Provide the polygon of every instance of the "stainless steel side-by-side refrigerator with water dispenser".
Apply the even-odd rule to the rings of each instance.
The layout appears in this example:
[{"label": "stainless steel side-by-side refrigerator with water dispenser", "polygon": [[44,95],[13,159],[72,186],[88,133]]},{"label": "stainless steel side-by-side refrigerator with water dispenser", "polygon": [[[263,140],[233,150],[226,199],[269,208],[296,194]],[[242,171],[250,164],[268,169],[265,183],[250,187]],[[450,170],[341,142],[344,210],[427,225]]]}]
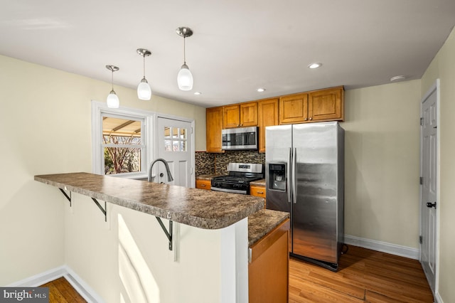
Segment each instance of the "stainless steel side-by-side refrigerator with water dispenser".
[{"label": "stainless steel side-by-side refrigerator with water dispenser", "polygon": [[265,128],[266,205],[291,213],[291,255],[338,270],[344,238],[344,129],[338,122]]}]

